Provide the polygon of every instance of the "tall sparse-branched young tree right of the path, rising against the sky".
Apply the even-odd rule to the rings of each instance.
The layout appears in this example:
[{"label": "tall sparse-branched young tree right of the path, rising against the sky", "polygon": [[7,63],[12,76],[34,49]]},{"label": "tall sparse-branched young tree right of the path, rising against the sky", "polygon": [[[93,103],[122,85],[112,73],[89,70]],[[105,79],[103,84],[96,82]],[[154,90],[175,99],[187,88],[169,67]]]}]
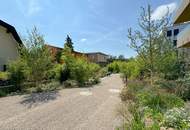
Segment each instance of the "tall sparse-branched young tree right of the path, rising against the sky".
[{"label": "tall sparse-branched young tree right of the path, rising against the sky", "polygon": [[128,38],[130,40],[130,47],[133,48],[138,57],[146,66],[147,71],[151,77],[151,84],[153,83],[153,76],[156,72],[157,59],[165,52],[164,44],[170,44],[165,36],[166,27],[169,25],[169,17],[166,15],[160,20],[152,18],[152,9],[142,8],[142,13],[139,19],[140,30],[128,30]]}]

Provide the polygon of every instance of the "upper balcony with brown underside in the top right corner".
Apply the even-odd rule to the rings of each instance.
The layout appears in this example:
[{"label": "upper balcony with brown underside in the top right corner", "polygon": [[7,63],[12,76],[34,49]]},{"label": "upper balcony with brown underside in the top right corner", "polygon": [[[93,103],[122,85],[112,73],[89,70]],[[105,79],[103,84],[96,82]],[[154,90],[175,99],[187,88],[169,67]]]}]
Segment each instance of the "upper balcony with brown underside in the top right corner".
[{"label": "upper balcony with brown underside in the top right corner", "polygon": [[190,21],[190,0],[182,0],[174,16],[174,24]]}]

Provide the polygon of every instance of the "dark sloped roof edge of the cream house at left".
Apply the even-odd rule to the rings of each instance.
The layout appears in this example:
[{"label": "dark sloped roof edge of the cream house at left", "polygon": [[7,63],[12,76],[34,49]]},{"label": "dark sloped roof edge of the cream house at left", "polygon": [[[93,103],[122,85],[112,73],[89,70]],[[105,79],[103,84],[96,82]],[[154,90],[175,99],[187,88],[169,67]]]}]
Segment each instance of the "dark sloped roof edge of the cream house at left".
[{"label": "dark sloped roof edge of the cream house at left", "polygon": [[15,29],[13,26],[11,26],[10,24],[8,24],[8,23],[6,23],[6,22],[4,22],[4,21],[2,21],[2,20],[0,20],[0,26],[3,26],[4,28],[6,28],[6,29],[7,29],[7,32],[11,33],[11,34],[13,35],[14,39],[15,39],[20,45],[22,45],[22,40],[20,39],[20,37],[19,37],[19,35],[18,35],[16,29]]}]

